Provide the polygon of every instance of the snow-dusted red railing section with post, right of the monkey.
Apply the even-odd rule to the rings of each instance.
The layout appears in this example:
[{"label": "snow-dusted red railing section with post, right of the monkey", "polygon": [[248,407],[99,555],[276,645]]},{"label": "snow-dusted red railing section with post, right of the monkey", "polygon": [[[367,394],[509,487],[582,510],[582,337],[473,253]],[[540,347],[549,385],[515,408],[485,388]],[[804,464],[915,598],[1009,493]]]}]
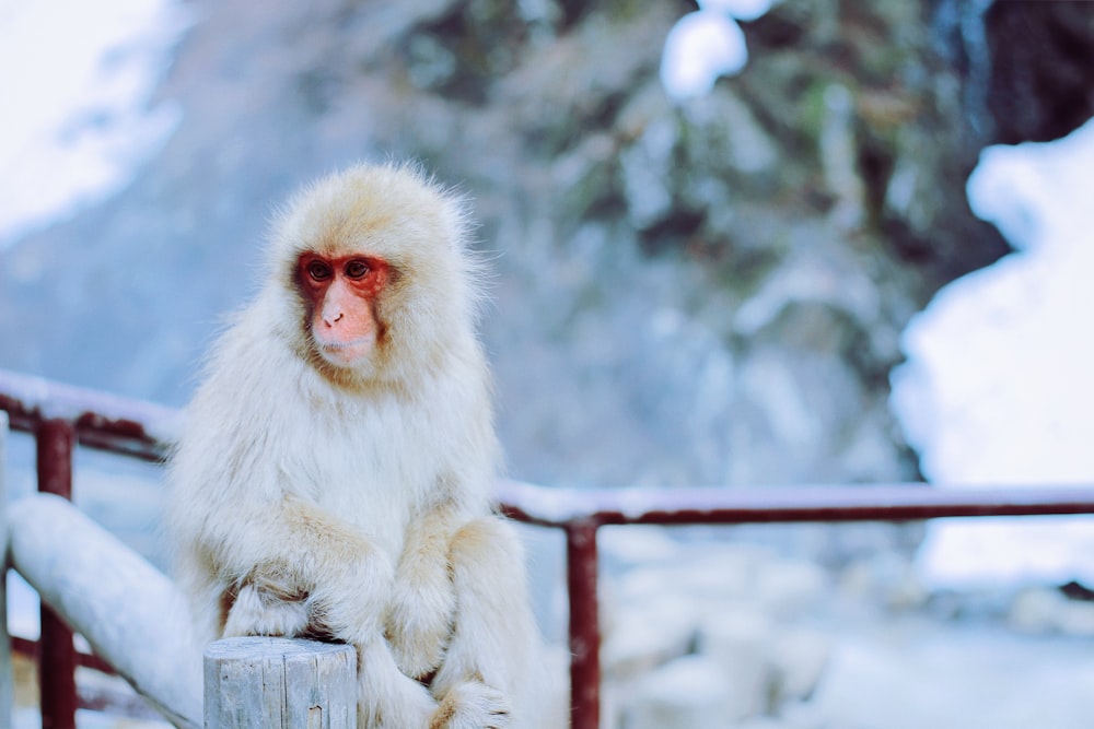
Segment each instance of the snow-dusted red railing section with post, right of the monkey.
[{"label": "snow-dusted red railing section with post, right of the monkey", "polygon": [[923,483],[793,489],[548,490],[501,484],[504,510],[558,527],[567,540],[570,603],[571,728],[600,721],[600,618],[596,531],[615,525],[742,525],[805,521],[910,521],[941,517],[1094,514],[1094,489],[955,491]]}]

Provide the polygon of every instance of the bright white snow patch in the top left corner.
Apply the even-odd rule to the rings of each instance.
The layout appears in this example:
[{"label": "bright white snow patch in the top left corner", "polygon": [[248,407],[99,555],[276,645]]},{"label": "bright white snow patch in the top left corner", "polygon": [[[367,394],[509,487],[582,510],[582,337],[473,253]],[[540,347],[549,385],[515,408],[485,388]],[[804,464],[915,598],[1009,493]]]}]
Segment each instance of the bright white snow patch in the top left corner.
[{"label": "bright white snow patch in the top left corner", "polygon": [[106,199],[171,136],[149,106],[187,25],[174,0],[0,0],[0,248]]}]

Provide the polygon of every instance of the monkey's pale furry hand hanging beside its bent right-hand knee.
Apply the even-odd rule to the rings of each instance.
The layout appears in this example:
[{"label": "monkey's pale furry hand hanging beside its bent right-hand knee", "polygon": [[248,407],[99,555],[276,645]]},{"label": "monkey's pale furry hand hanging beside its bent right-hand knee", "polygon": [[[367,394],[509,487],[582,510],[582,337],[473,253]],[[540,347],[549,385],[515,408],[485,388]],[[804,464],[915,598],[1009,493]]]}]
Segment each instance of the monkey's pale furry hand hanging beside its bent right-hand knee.
[{"label": "monkey's pale furry hand hanging beside its bent right-hand knee", "polygon": [[441,665],[456,610],[447,550],[405,554],[387,610],[387,640],[406,675],[423,678]]}]

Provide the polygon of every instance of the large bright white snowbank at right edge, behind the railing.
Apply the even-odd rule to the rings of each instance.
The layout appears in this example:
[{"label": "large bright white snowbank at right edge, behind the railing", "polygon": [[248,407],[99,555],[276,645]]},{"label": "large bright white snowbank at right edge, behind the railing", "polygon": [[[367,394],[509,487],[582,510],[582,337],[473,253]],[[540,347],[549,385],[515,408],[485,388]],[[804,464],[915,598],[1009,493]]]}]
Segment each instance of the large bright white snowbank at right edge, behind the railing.
[{"label": "large bright white snowbank at right edge, behind the railing", "polygon": [[[984,150],[973,211],[1016,248],[945,286],[903,337],[892,405],[942,487],[1094,482],[1094,119],[1048,143]],[[1094,585],[1094,519],[930,525],[933,587]]]}]

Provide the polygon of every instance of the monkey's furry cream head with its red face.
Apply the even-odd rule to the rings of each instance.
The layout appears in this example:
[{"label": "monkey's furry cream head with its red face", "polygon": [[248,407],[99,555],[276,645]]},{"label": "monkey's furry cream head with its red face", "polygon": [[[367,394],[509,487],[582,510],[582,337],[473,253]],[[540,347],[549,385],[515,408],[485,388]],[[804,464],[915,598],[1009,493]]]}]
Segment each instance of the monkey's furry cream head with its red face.
[{"label": "monkey's furry cream head with its red face", "polygon": [[466,231],[461,201],[415,168],[359,165],[316,181],[274,224],[265,293],[287,306],[275,327],[341,386],[443,366],[475,338]]}]

